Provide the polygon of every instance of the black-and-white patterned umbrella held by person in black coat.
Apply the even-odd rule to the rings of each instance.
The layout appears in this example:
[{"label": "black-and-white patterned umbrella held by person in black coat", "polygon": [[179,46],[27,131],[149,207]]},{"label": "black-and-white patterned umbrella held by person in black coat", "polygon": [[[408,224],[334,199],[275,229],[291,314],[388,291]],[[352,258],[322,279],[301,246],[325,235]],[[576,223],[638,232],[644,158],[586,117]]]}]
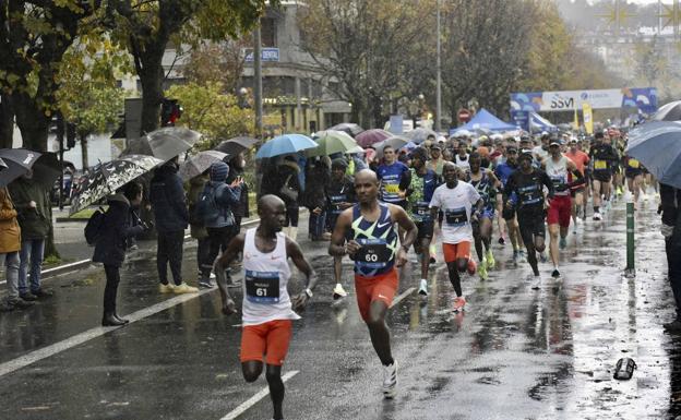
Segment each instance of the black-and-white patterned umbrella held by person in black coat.
[{"label": "black-and-white patterned umbrella held by person in black coat", "polygon": [[100,163],[85,177],[83,187],[71,201],[69,215],[112,194],[119,188],[163,163],[164,160],[159,158],[146,155],[129,155],[106,164]]}]

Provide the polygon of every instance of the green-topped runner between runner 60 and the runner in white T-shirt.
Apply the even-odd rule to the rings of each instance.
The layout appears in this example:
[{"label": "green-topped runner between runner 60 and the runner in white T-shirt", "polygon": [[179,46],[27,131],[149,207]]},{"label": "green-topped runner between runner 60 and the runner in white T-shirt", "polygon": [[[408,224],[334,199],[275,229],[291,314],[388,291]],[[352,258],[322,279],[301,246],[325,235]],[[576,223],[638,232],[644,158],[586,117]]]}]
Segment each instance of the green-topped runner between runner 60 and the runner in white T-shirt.
[{"label": "green-topped runner between runner 60 and the runner in white T-shirt", "polygon": [[409,217],[416,224],[418,235],[414,242],[414,251],[421,262],[421,281],[419,293],[428,296],[428,266],[430,265],[430,242],[434,231],[434,219],[430,216],[428,205],[440,178],[434,170],[428,169],[426,149],[417,147],[411,152],[411,183],[407,189]]}]

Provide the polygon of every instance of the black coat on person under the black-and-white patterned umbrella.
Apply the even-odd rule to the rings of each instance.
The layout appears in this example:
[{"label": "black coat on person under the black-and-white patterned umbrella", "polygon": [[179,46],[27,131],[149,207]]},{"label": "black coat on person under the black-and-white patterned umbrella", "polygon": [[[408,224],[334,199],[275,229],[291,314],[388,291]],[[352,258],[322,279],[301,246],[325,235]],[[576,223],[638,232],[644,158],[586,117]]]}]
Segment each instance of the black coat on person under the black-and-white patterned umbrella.
[{"label": "black coat on person under the black-and-white patterned umbrella", "polygon": [[124,195],[111,195],[108,204],[93,262],[120,267],[126,259],[128,238],[142,233],[144,228],[131,225],[130,203]]}]

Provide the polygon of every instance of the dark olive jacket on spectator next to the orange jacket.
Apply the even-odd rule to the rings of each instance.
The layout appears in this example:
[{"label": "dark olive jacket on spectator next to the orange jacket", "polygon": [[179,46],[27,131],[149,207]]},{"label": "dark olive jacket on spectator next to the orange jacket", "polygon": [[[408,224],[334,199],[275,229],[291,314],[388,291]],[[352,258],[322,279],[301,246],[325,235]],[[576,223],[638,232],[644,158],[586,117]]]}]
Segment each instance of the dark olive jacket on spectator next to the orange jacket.
[{"label": "dark olive jacket on spectator next to the orange jacket", "polygon": [[[52,224],[52,209],[49,193],[46,188],[33,179],[20,177],[9,185],[14,208],[19,215],[16,219],[22,229],[22,239],[45,239],[49,235]],[[28,203],[34,201],[35,208]]]}]

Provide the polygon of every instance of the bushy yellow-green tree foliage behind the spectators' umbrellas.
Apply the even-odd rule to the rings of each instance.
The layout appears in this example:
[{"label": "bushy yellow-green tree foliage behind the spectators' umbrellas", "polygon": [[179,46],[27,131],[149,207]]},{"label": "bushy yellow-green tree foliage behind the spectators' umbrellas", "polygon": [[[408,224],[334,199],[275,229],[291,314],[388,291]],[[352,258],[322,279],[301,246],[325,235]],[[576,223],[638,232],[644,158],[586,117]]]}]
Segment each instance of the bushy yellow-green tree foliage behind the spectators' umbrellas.
[{"label": "bushy yellow-green tree foliage behind the spectators' umbrellas", "polygon": [[254,133],[253,111],[241,109],[237,96],[225,94],[219,82],[175,85],[166,91],[166,96],[182,105],[182,117],[178,125],[203,134],[195,146],[198,149],[210,149],[223,140]]}]

